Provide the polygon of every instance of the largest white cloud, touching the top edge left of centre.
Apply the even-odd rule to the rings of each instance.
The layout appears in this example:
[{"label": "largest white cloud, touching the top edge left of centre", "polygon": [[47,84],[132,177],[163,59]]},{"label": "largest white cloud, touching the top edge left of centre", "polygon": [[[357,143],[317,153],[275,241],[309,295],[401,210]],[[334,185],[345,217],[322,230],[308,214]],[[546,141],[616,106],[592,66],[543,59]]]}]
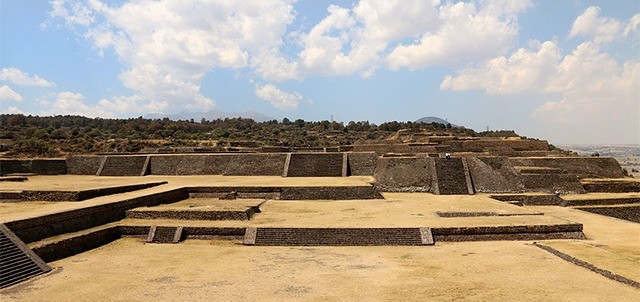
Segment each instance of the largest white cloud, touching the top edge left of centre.
[{"label": "largest white cloud, touching the top edge left of centre", "polygon": [[296,77],[295,63],[279,52],[281,37],[294,19],[293,0],[133,1],[119,6],[91,0],[81,8],[62,2],[53,3],[51,15],[85,26],[84,37],[100,52],[113,49],[129,66],[120,75],[123,84],[156,104],[213,108],[214,101],[200,87],[213,68],[253,67],[264,77]]}]

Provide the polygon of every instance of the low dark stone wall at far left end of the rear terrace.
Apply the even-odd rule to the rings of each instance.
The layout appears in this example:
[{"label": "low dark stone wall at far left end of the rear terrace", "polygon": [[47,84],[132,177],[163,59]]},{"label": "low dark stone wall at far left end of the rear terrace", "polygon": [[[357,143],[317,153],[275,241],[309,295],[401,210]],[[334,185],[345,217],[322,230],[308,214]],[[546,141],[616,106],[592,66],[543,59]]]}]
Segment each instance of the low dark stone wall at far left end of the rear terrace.
[{"label": "low dark stone wall at far left end of the rear terrace", "polygon": [[15,173],[67,174],[67,165],[64,159],[0,159],[0,176]]}]

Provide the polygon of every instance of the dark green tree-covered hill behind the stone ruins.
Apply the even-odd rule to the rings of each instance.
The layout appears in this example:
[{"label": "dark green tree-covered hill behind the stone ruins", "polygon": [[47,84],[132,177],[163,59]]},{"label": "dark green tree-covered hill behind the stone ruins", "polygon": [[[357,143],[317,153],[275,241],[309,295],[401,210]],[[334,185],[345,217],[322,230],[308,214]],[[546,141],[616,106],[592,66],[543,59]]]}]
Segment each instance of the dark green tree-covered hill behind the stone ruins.
[{"label": "dark green tree-covered hill behind the stone ruins", "polygon": [[440,123],[368,121],[256,122],[225,118],[172,121],[164,119],[103,119],[82,116],[0,115],[0,155],[58,157],[66,154],[137,152],[168,146],[213,147],[230,141],[255,141],[265,146],[328,147],[381,141],[401,129],[448,132],[459,136],[517,136],[513,131],[476,133]]}]

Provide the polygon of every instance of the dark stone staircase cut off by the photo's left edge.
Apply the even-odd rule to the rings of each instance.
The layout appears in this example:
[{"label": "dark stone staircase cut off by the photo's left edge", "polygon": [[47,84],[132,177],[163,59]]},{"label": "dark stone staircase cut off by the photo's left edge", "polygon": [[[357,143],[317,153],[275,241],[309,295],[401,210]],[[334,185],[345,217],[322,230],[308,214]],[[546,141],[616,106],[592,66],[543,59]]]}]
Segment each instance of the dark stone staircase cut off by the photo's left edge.
[{"label": "dark stone staircase cut off by the photo's left edge", "polygon": [[0,288],[51,271],[35,253],[0,224]]}]

